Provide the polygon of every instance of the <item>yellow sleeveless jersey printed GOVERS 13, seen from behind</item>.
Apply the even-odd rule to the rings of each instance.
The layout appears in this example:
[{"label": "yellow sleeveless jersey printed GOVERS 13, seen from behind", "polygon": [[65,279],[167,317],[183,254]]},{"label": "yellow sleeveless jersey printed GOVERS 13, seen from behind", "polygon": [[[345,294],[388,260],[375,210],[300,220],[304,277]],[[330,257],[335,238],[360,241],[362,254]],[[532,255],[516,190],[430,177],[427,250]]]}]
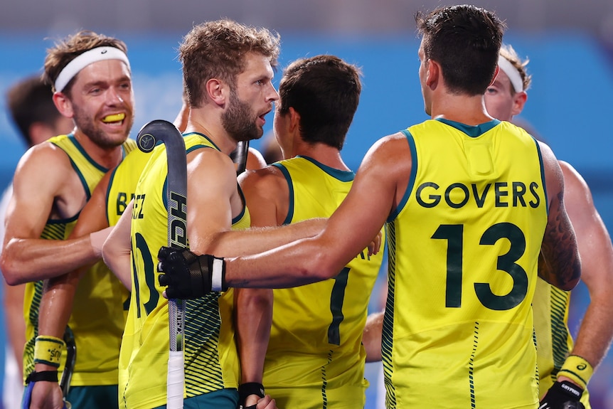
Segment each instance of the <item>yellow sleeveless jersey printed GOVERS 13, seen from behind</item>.
[{"label": "yellow sleeveless jersey printed GOVERS 13, seen from behind", "polygon": [[403,131],[412,174],[388,218],[388,408],[536,408],[531,302],[547,224],[537,142],[508,122]]}]

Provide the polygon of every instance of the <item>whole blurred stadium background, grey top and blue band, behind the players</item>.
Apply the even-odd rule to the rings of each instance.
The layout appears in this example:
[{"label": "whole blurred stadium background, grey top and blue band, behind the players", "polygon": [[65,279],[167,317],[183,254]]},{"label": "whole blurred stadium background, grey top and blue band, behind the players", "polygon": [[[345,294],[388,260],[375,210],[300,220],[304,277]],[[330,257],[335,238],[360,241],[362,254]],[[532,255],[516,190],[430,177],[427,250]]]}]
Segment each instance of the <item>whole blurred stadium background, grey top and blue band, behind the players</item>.
[{"label": "whole blurred stadium background, grey top and blue band, behind the players", "polygon": [[[357,169],[376,139],[426,119],[417,80],[413,16],[435,0],[0,0],[0,186],[9,184],[24,146],[6,115],[6,89],[41,73],[46,48],[85,28],[128,45],[137,98],[132,134],[151,119],[173,120],[181,106],[176,48],[194,23],[220,17],[265,26],[282,36],[280,68],[294,58],[331,53],[363,70],[363,93],[343,154]],[[521,119],[569,161],[592,188],[613,230],[613,1],[479,0],[506,20],[505,42],[528,57],[533,85]],[[280,73],[277,75],[280,76]],[[267,133],[272,114],[267,117]],[[252,143],[260,147],[261,142]],[[43,177],[43,175],[41,175]],[[380,284],[383,285],[383,275]],[[378,309],[378,292],[371,309]],[[589,295],[573,292],[576,331]],[[3,324],[0,317],[0,324]],[[613,323],[611,323],[613,324]],[[4,339],[0,339],[4,342]],[[592,408],[613,408],[613,357],[590,383]],[[0,368],[4,356],[0,354]],[[367,408],[375,408],[378,364],[368,364]],[[0,378],[1,378],[0,371]]]}]

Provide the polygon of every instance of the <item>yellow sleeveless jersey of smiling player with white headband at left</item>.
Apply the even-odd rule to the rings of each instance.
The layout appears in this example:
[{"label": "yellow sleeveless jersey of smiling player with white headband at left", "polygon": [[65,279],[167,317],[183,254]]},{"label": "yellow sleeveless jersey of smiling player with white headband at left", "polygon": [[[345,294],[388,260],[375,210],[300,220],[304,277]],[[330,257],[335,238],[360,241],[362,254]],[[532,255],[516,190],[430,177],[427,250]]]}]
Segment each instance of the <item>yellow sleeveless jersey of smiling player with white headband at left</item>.
[{"label": "yellow sleeveless jersey of smiling player with white headband at left", "polygon": [[[48,140],[70,157],[73,169],[79,175],[89,200],[91,192],[109,170],[97,164],[70,135]],[[124,142],[124,155],[136,147],[133,139]],[[41,238],[65,240],[70,235],[78,215],[65,220],[49,220]],[[68,272],[68,271],[67,271]],[[26,346],[23,351],[23,376],[34,369],[34,340],[38,335],[38,307],[41,304],[43,282],[28,282],[23,304],[26,319]],[[125,317],[123,303],[129,292],[100,261],[88,270],[79,282],[73,312],[68,326],[75,334],[78,358],[75,363],[73,386],[117,385],[117,361]],[[61,359],[65,361],[65,353]]]}]

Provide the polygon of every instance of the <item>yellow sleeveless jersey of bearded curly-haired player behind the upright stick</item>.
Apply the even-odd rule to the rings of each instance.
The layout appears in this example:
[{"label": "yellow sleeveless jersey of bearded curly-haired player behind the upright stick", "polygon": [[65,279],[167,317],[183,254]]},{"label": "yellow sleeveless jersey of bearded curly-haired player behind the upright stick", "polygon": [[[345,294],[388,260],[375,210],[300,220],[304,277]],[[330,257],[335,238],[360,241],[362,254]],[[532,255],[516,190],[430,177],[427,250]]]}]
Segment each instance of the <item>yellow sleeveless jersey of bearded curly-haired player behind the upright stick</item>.
[{"label": "yellow sleeveless jersey of bearded curly-haired player behind the upright stick", "polygon": [[[185,144],[187,152],[218,149],[201,134],[186,135]],[[132,296],[119,357],[120,408],[155,408],[166,404],[169,312],[156,265],[159,248],[168,245],[167,169],[166,149],[156,147],[142,171],[134,196]],[[233,220],[233,228],[249,226],[245,208]],[[239,364],[232,314],[233,290],[186,301],[186,398],[238,388]]]}]

